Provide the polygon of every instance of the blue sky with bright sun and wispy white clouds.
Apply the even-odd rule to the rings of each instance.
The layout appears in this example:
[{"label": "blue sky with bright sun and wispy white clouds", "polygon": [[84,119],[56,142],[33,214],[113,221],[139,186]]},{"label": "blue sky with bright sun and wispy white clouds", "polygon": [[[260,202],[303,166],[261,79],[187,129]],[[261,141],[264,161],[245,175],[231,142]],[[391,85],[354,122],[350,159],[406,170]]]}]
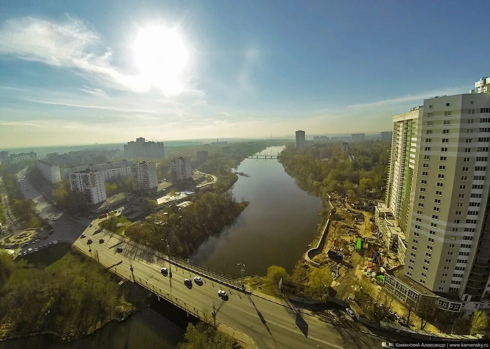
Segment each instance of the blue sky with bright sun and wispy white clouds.
[{"label": "blue sky with bright sun and wispy white clouds", "polygon": [[379,132],[490,75],[490,1],[1,1],[0,149]]}]

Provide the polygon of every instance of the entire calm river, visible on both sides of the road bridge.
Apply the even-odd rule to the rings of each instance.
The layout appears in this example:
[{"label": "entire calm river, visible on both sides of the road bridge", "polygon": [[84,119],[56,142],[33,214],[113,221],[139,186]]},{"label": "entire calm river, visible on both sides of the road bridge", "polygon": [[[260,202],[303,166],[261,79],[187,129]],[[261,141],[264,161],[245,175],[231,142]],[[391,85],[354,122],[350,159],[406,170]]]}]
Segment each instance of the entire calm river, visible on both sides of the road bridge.
[{"label": "entire calm river, visible on both sides of the road bridge", "polygon": [[[257,154],[276,155],[283,148],[269,147]],[[265,275],[270,265],[291,272],[316,235],[321,199],[301,190],[276,159],[245,159],[237,172],[248,176],[239,176],[233,194],[250,204],[233,225],[203,243],[191,259],[235,277],[241,269],[245,275]],[[183,340],[186,320],[174,307],[155,302],[123,323],[108,324],[72,343],[36,336],[0,342],[0,349],[173,349]]]}]

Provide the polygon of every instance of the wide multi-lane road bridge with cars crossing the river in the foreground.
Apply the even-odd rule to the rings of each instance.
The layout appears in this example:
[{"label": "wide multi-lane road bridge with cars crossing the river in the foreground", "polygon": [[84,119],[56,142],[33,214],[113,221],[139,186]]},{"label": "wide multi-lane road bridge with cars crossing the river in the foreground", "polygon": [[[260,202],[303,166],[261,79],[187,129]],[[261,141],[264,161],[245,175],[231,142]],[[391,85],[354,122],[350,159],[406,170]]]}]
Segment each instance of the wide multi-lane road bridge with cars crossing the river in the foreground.
[{"label": "wide multi-lane road bridge with cars crossing the river in the foreground", "polygon": [[[380,347],[380,338],[363,333],[361,325],[350,319],[334,316],[329,323],[296,309],[285,299],[250,292],[240,281],[169,258],[108,231],[96,233],[98,222],[97,219],[94,226],[87,227],[87,237],[78,239],[73,246],[160,299],[215,324],[249,348]],[[89,238],[92,244],[88,244]],[[98,243],[101,238],[104,242]],[[118,247],[123,252],[118,253]],[[167,275],[160,272],[162,267],[169,269]],[[196,283],[195,276],[200,276],[202,283]],[[185,278],[191,279],[192,285],[184,284]],[[220,298],[219,290],[226,291],[228,297]]]}]

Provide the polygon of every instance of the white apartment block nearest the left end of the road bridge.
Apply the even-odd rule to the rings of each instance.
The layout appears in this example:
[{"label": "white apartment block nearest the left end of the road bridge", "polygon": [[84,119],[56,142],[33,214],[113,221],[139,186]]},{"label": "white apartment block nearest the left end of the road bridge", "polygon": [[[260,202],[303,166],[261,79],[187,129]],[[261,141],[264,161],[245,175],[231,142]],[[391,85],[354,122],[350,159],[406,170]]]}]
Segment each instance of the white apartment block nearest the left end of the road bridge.
[{"label": "white apartment block nearest the left end of the road bridge", "polygon": [[104,175],[101,171],[85,170],[70,174],[72,190],[83,194],[87,204],[96,204],[107,199]]}]

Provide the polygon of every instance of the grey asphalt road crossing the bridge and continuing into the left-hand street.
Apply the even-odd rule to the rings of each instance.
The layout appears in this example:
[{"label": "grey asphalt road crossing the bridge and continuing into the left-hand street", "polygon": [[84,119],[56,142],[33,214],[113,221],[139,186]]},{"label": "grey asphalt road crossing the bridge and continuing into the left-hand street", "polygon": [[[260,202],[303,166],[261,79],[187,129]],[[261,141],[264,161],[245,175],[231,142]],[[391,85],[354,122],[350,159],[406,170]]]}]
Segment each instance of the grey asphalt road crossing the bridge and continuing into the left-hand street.
[{"label": "grey asphalt road crossing the bridge and continuing into the left-hand street", "polygon": [[[27,190],[24,190],[24,186]],[[132,264],[136,277],[178,298],[186,306],[195,307],[200,313],[207,312],[209,316],[214,302],[216,320],[248,335],[257,348],[381,348],[381,339],[359,332],[359,327],[355,326],[354,322],[348,328],[343,328],[322,322],[308,314],[297,315],[298,312],[285,304],[278,304],[255,295],[246,295],[205,277],[201,285],[193,281],[192,287],[187,287],[183,280],[185,278],[192,280],[196,275],[175,266],[172,266],[171,285],[170,278],[160,273],[162,267],[170,269],[163,259],[126,243],[120,243],[119,236],[111,236],[105,232],[94,235],[98,229],[98,219],[94,226],[88,227],[91,220],[78,222],[66,217],[46,202],[29,181],[24,180],[22,188],[26,198],[38,201],[36,209],[42,217],[50,218],[54,228],[54,233],[49,236],[49,239],[41,240],[39,244],[54,239],[74,242],[77,248],[98,259],[103,265],[111,267],[110,270],[128,278],[131,273],[130,264]],[[53,217],[56,217],[55,222],[52,221]],[[82,232],[85,232],[86,238],[80,238]],[[93,240],[90,245],[89,238]],[[98,243],[100,238],[104,239],[101,244]],[[123,252],[118,253],[117,247],[122,247]],[[218,297],[218,291],[221,289],[228,293],[227,299]],[[279,299],[277,301],[281,302]]]}]

